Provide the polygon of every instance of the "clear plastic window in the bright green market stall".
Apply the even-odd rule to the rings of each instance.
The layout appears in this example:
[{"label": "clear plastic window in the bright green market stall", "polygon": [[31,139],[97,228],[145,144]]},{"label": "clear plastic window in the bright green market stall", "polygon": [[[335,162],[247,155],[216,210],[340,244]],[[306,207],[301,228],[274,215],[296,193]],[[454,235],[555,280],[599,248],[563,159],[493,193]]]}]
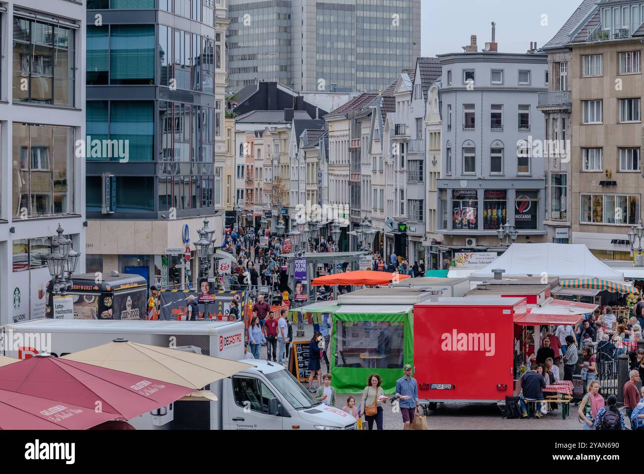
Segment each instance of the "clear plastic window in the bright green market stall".
[{"label": "clear plastic window in the bright green market stall", "polygon": [[400,368],[403,321],[336,321],[337,367]]}]

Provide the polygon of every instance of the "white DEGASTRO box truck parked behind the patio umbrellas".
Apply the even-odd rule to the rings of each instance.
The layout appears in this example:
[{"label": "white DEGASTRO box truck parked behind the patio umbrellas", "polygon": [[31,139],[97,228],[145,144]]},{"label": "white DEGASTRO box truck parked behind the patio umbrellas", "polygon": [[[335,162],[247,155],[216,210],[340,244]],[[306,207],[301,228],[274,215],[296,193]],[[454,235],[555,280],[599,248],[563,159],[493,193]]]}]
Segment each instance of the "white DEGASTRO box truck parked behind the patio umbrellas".
[{"label": "white DEGASTRO box truck parked behind the patio umbrellas", "polygon": [[4,352],[23,358],[35,353],[58,357],[100,346],[113,339],[183,347],[205,355],[240,360],[256,367],[210,384],[218,401],[175,402],[156,413],[130,420],[137,430],[355,430],[345,411],[316,402],[280,364],[243,359],[242,322],[117,321],[35,319],[6,324]]}]

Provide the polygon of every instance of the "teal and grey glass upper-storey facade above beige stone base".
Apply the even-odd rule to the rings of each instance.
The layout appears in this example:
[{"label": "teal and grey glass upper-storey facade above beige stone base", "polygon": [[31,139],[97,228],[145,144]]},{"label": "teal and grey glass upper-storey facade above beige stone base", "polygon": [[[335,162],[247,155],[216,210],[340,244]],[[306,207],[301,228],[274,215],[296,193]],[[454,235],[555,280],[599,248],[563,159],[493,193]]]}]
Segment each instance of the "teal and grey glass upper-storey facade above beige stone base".
[{"label": "teal and grey glass upper-storey facade above beige stone base", "polygon": [[[155,8],[153,4],[95,0],[88,9],[135,10]],[[214,0],[160,0],[158,8],[214,23]],[[97,146],[116,141],[129,152],[124,160],[88,143],[88,217],[101,217],[101,175],[106,172],[115,175],[117,218],[136,213],[137,218],[147,214],[155,219],[171,208],[178,218],[209,214],[221,202],[215,194],[215,188],[222,191],[214,138],[223,110],[221,101],[214,100],[214,70],[216,61],[222,61],[223,41],[221,34],[195,30],[140,25],[136,12],[129,25],[88,26],[86,133]],[[151,163],[153,168],[147,166]]]}]

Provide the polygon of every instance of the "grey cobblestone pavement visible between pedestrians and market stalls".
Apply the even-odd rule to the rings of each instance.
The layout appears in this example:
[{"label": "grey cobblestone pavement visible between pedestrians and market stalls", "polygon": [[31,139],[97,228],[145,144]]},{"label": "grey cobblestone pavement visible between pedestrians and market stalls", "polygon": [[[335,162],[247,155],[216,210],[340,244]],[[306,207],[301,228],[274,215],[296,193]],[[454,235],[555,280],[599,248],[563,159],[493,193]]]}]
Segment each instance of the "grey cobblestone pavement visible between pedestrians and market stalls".
[{"label": "grey cobblestone pavement visible between pedestrians and market stalls", "polygon": [[[296,334],[297,324],[293,324],[293,334]],[[313,337],[313,327],[305,324],[304,337],[295,337],[295,341],[308,341]],[[261,359],[266,359],[266,347],[260,348]],[[322,360],[323,373],[327,366]],[[402,377],[402,371],[401,371]],[[307,384],[303,386],[307,388]],[[313,382],[314,388],[317,382]],[[336,406],[345,406],[346,398],[353,395],[357,403],[360,402],[362,393],[339,393],[336,396]],[[386,395],[393,395],[386,394]],[[467,404],[467,403],[441,403],[437,410],[430,411],[427,417],[427,426],[430,430],[581,430],[582,425],[577,420],[577,407],[571,405],[570,414],[562,420],[561,410],[550,411],[542,419],[529,420],[501,419],[501,411],[497,405],[492,404]],[[365,424],[366,428],[366,424]],[[402,430],[403,418],[399,412],[394,413],[392,405],[387,403],[383,412],[384,430]],[[375,423],[374,423],[375,430]]]}]

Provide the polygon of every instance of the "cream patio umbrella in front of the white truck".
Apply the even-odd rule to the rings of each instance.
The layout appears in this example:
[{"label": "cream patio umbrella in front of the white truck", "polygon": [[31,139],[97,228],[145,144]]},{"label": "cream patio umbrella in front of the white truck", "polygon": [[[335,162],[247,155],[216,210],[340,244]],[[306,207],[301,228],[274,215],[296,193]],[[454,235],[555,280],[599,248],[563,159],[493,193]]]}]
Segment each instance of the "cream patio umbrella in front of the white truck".
[{"label": "cream patio umbrella in front of the white truck", "polygon": [[214,393],[201,389],[240,370],[254,367],[236,360],[149,346],[126,339],[115,339],[102,346],[64,355],[62,359],[151,377],[195,390],[182,400],[214,401],[217,399]]}]

